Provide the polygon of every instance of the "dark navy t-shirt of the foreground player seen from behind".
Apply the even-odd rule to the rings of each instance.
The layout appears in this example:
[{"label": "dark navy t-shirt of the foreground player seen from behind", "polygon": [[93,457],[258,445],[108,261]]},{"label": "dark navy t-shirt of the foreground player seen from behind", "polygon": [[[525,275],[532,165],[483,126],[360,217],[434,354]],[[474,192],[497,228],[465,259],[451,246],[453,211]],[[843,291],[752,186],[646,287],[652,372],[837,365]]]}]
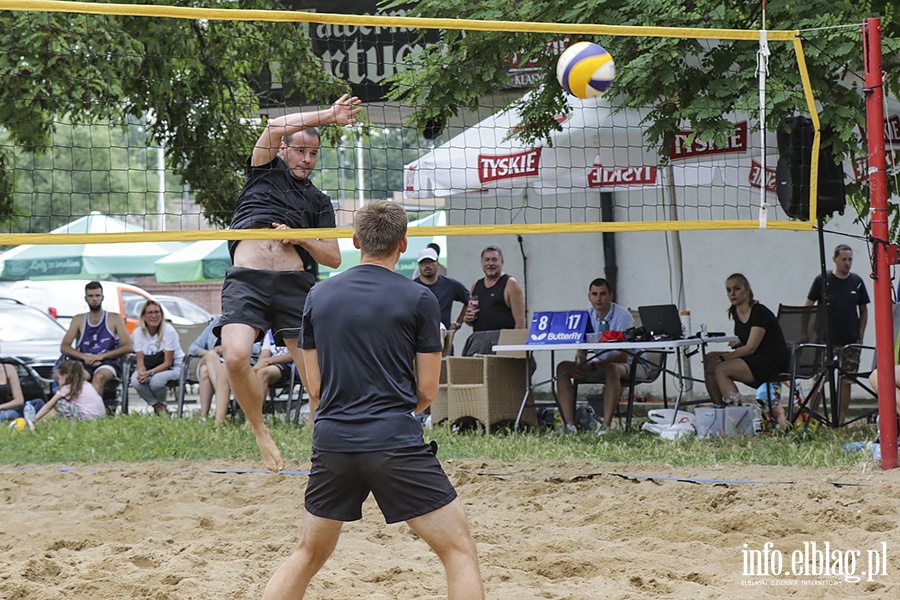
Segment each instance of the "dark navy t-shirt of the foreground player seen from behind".
[{"label": "dark navy t-shirt of the foreground player seen from behind", "polygon": [[375,452],[423,443],[413,360],[440,352],[440,309],[423,286],[375,265],[316,284],[303,310],[301,347],[322,375],[312,446]]}]

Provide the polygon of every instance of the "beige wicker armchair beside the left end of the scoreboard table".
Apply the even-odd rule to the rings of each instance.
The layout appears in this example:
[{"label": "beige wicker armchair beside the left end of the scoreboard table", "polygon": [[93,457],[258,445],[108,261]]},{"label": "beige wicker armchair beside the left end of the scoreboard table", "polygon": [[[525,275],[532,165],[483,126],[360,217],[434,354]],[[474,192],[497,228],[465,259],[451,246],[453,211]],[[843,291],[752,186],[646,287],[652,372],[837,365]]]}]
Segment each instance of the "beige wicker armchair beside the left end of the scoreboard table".
[{"label": "beige wicker armchair beside the left end of the scoreboard table", "polygon": [[[447,418],[451,425],[478,421],[487,433],[514,423],[522,405],[528,361],[507,356],[447,357]],[[432,422],[435,420],[432,412]],[[526,408],[522,422],[537,427],[534,407]]]}]

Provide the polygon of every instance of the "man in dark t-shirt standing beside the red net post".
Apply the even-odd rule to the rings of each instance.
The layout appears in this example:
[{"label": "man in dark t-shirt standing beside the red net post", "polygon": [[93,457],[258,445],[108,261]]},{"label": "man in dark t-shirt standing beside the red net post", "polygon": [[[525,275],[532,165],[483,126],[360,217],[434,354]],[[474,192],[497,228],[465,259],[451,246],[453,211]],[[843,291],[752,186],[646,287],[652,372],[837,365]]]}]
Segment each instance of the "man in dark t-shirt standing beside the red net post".
[{"label": "man in dark t-shirt standing beside the red net post", "polygon": [[[856,273],[851,273],[853,266],[853,250],[846,244],[838,244],[834,249],[834,269],[828,273],[828,323],[831,328],[831,344],[836,351],[842,353],[844,368],[856,371],[859,367],[859,348],[842,349],[847,344],[862,343],[866,333],[866,321],[869,318],[869,293],[866,284]],[[822,275],[816,275],[809,293],[806,295],[806,306],[822,302]],[[841,383],[840,421],[844,422],[850,407],[850,381]]]}]

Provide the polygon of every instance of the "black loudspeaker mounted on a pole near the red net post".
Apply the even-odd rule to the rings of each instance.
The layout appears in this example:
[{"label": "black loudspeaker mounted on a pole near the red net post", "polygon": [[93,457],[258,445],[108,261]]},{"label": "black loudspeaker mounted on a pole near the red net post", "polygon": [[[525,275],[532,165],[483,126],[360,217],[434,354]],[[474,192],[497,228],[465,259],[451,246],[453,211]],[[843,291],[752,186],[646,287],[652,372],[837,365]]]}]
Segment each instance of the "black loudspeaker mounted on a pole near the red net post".
[{"label": "black loudspeaker mounted on a pole near the red net post", "polygon": [[[788,117],[778,129],[778,165],[775,167],[775,191],[781,208],[792,219],[809,219],[809,172],[812,162],[814,131],[807,117]],[[831,150],[824,143],[822,132],[819,145],[819,202],[817,217],[844,214],[847,194],[844,171],[835,164]]]}]

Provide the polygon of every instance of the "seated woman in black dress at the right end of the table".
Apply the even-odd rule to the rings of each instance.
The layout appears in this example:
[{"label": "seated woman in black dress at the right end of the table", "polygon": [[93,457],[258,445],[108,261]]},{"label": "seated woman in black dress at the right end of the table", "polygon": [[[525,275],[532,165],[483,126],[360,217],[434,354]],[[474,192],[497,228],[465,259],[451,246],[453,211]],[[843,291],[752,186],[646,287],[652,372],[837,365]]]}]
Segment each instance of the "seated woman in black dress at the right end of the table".
[{"label": "seated woman in black dress at the right end of the table", "polygon": [[[725,291],[731,302],[728,316],[734,321],[738,341],[731,342],[731,352],[710,352],[706,357],[706,385],[713,402],[719,405],[740,398],[735,382],[758,388],[784,373],[790,360],[778,319],[753,299],[747,278],[740,273],[731,275],[725,280]],[[772,408],[773,416],[783,422],[784,410]]]}]

